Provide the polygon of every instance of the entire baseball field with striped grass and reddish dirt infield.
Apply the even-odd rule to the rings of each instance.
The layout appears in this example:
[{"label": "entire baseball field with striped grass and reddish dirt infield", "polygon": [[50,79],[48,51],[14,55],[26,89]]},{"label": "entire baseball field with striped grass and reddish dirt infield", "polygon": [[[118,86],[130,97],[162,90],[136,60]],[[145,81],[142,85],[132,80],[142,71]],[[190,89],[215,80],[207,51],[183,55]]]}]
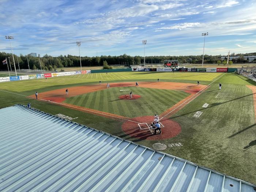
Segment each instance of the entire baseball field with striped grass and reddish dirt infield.
[{"label": "entire baseball field with striped grass and reddish dirt infield", "polygon": [[[255,184],[255,85],[234,73],[60,76],[0,83],[0,107],[30,102],[41,111]],[[149,129],[154,114],[162,127],[157,135]]]}]

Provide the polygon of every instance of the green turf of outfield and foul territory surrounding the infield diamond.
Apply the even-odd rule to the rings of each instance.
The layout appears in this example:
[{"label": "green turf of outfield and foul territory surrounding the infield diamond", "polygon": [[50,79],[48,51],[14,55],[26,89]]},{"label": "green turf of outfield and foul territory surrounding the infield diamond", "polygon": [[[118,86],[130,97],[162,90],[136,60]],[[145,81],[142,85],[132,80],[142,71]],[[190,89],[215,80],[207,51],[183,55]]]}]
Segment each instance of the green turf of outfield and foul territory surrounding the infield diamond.
[{"label": "green turf of outfield and foul territory surrounding the infield diamond", "polygon": [[[106,74],[86,74],[67,77],[57,77],[19,82],[0,83],[0,90],[12,91],[18,94],[30,95],[35,90],[39,93],[60,89],[67,86],[94,84],[102,82],[122,81],[161,81],[210,84],[223,74],[218,73],[160,73],[160,72],[119,72]],[[222,90],[218,90],[218,83],[222,83]],[[130,138],[121,130],[122,121],[100,117],[29,99],[21,95],[0,91],[0,106],[11,106],[16,103],[31,106],[51,114],[64,114],[78,117],[75,121],[95,129],[121,136],[139,144],[152,147],[154,143],[165,144],[182,143],[180,147],[167,147],[163,152],[185,158],[189,161],[207,166],[220,172],[238,177],[245,181],[256,183],[255,155],[256,155],[256,123],[253,110],[252,91],[245,85],[256,85],[256,82],[240,75],[228,73],[223,75],[210,88],[196,99],[182,108],[171,118],[182,126],[182,131],[175,138],[149,141],[138,141]],[[138,87],[137,87],[138,88]],[[227,98],[216,98],[221,92]],[[223,96],[223,97],[224,97]],[[142,98],[141,98],[142,99]],[[136,101],[136,100],[133,100]],[[132,102],[133,102],[132,101]],[[130,102],[130,101],[128,101]],[[113,103],[113,102],[109,102]],[[207,108],[202,108],[209,103]],[[197,111],[202,111],[198,118],[193,117]],[[143,114],[144,115],[144,114]],[[164,129],[162,130],[164,134]]]}]

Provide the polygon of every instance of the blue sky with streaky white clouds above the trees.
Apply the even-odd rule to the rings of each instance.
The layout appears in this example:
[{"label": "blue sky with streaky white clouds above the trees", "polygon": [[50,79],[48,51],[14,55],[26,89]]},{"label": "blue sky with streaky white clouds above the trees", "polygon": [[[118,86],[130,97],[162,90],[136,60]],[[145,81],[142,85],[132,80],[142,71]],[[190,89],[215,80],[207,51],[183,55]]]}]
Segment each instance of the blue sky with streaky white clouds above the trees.
[{"label": "blue sky with streaky white clouds above the trees", "polygon": [[0,0],[0,52],[146,56],[256,52],[255,0]]}]

